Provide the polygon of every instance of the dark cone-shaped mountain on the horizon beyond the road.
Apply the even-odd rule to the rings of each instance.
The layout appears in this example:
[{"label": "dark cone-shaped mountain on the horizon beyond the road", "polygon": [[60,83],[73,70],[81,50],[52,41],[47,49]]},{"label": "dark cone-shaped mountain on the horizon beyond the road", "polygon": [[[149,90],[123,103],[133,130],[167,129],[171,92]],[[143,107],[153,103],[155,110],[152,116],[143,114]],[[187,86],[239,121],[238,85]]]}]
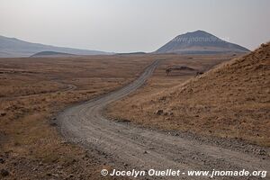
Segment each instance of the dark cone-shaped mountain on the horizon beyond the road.
[{"label": "dark cone-shaped mountain on the horizon beyond the road", "polygon": [[177,54],[215,54],[215,53],[244,53],[249,51],[238,44],[230,43],[206,31],[187,32],[176,36],[155,53]]}]

